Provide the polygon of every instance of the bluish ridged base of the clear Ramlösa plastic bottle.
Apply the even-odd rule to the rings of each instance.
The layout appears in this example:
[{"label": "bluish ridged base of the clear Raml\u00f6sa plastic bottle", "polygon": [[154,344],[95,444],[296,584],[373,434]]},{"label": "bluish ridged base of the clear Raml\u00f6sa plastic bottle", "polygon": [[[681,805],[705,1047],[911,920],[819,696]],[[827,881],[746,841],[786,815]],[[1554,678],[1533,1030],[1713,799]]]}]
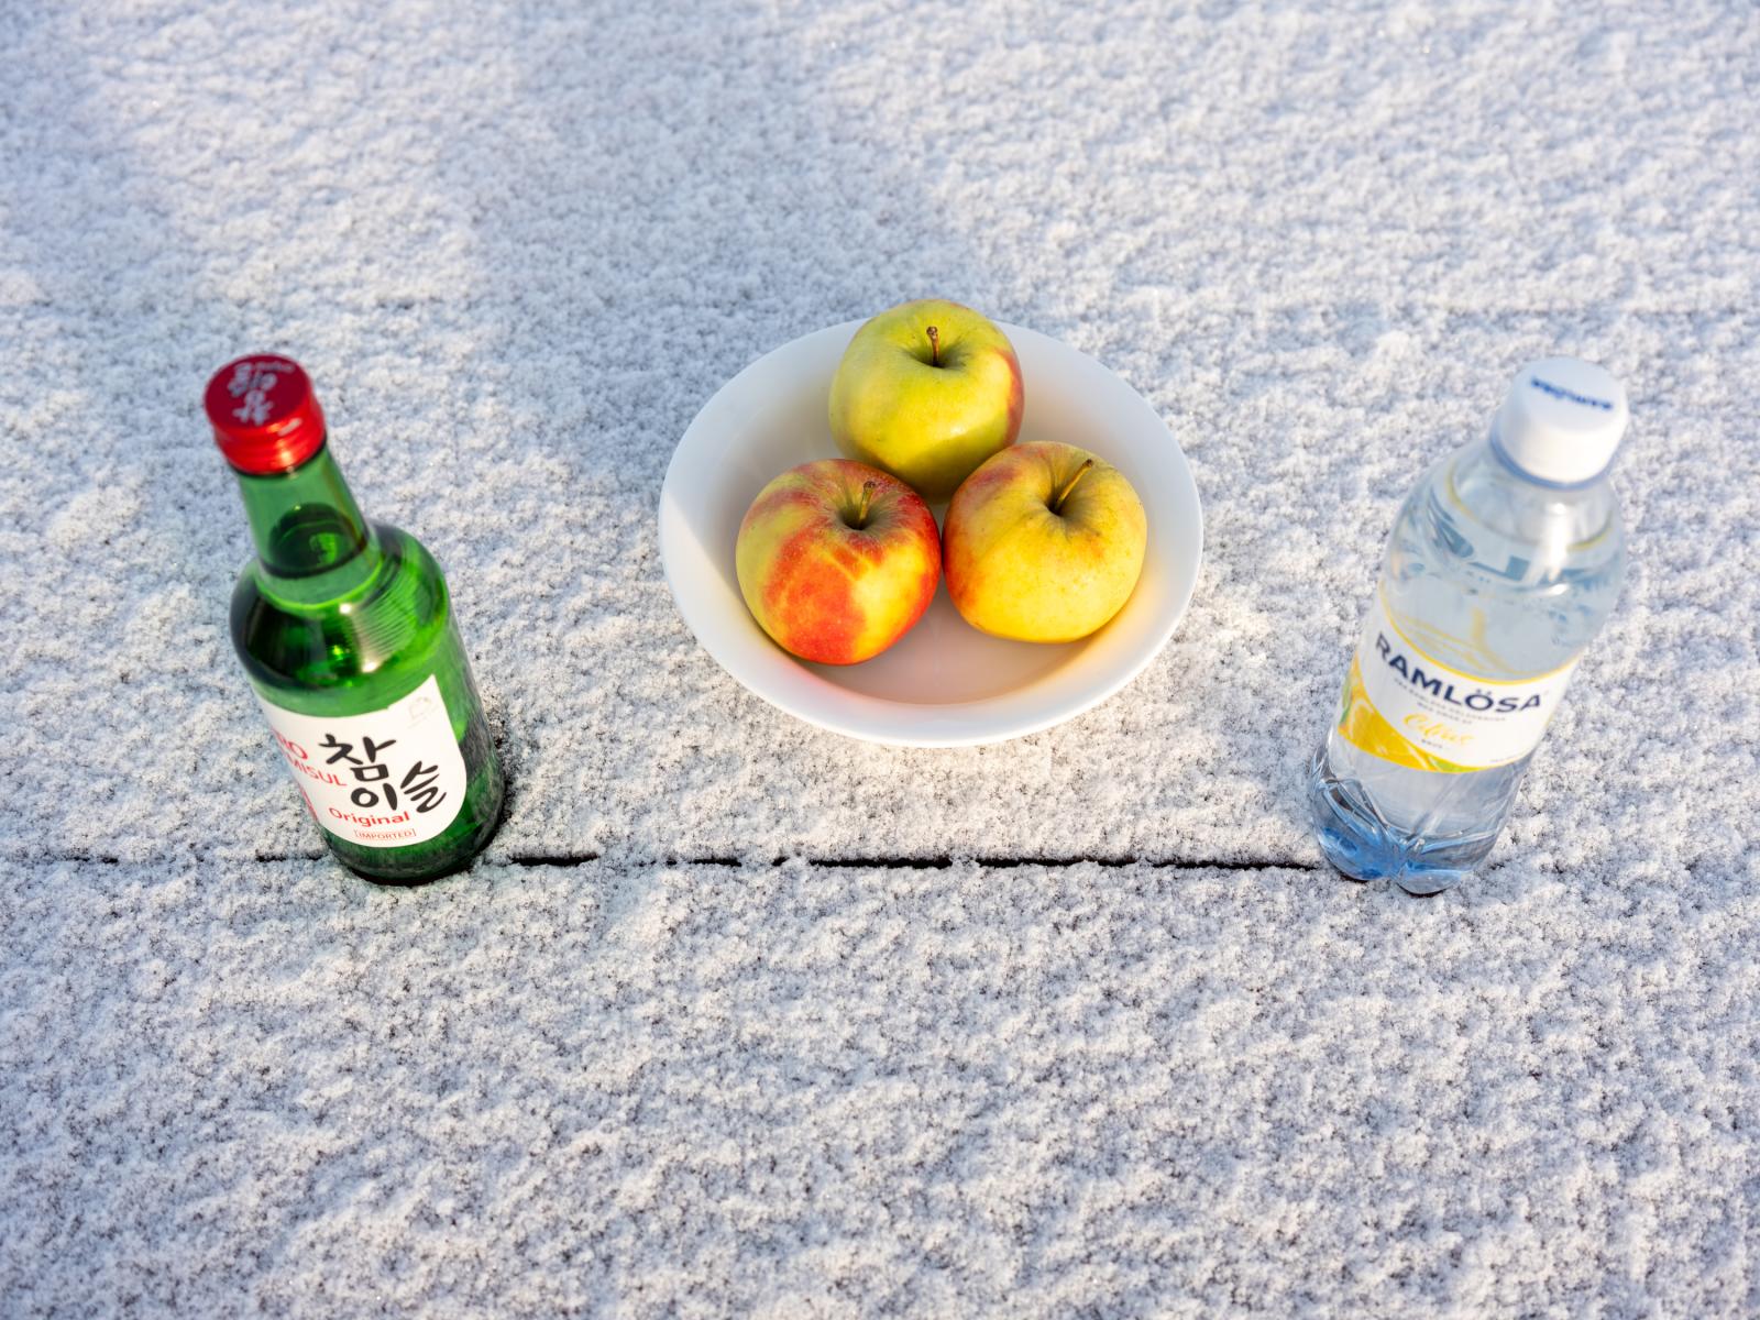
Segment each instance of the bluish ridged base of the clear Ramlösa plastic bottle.
[{"label": "bluish ridged base of the clear Raml\u00f6sa plastic bottle", "polygon": [[1426,840],[1389,825],[1362,785],[1327,771],[1325,743],[1308,771],[1308,808],[1320,852],[1348,880],[1392,880],[1413,898],[1433,898],[1466,880],[1498,843],[1498,829]]}]

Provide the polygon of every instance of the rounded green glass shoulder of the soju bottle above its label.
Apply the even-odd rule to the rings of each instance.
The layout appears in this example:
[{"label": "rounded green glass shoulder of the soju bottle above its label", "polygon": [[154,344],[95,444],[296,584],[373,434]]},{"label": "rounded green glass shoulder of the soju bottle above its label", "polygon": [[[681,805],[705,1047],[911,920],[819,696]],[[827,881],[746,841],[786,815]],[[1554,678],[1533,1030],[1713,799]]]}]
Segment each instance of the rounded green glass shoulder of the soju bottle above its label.
[{"label": "rounded green glass shoulder of the soju bottle above its label", "polygon": [[260,690],[371,693],[396,700],[435,667],[449,642],[451,597],[440,565],[415,537],[373,524],[380,561],[329,598],[289,598],[252,560],[232,588],[232,644]]}]

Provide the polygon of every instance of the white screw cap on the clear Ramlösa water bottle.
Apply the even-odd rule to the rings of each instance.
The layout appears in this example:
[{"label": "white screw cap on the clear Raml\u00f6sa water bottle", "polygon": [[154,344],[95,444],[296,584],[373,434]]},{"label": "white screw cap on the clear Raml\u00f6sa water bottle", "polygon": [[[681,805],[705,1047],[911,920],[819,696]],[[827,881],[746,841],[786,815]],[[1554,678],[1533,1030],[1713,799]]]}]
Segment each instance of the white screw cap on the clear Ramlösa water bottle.
[{"label": "white screw cap on the clear Raml\u00f6sa water bottle", "polygon": [[1595,363],[1524,366],[1498,410],[1494,440],[1529,477],[1575,486],[1607,472],[1626,433],[1626,391]]}]

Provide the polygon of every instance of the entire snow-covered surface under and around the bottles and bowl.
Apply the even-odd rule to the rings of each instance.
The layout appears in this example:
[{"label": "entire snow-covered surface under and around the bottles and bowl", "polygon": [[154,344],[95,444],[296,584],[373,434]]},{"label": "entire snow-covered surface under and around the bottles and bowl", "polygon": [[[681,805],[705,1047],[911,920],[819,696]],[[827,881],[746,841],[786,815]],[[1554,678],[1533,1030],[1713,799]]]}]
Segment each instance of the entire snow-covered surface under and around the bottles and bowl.
[{"label": "entire snow-covered surface under and around the bottles and bowl", "polygon": [[[0,9],[0,1311],[1760,1309],[1760,18],[1336,9]],[[922,294],[1207,517],[1149,672],[970,752],[750,697],[655,544],[716,385]],[[234,665],[253,348],[449,568],[468,876],[319,859]],[[1554,350],[1621,607],[1491,873],[1339,884],[1380,540]],[[1072,864],[822,864],[938,857]]]}]

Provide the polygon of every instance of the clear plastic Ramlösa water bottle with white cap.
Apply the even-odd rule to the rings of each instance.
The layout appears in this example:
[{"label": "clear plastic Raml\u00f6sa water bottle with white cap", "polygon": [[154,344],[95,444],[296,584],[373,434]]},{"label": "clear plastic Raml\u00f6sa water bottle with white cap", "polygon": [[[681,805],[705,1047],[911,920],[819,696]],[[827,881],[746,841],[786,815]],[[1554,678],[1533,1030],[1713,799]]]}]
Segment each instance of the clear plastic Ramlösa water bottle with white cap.
[{"label": "clear plastic Raml\u00f6sa water bottle with white cap", "polygon": [[1496,845],[1619,597],[1607,472],[1624,429],[1617,380],[1549,357],[1522,368],[1484,440],[1406,496],[1308,776],[1320,848],[1345,875],[1438,894]]}]

